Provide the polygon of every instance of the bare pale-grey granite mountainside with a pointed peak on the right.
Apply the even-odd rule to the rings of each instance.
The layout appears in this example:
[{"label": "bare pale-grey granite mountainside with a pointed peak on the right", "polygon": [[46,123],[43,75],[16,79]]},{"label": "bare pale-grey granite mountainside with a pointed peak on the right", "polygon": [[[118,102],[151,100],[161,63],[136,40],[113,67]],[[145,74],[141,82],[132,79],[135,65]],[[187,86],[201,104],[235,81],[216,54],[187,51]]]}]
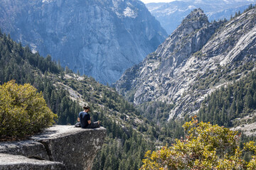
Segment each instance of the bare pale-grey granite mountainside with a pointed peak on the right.
[{"label": "bare pale-grey granite mountainside with a pointed peak on the right", "polygon": [[173,103],[170,118],[198,113],[208,94],[255,69],[255,13],[209,23],[200,8],[193,10],[155,52],[127,69],[117,91],[136,104]]}]

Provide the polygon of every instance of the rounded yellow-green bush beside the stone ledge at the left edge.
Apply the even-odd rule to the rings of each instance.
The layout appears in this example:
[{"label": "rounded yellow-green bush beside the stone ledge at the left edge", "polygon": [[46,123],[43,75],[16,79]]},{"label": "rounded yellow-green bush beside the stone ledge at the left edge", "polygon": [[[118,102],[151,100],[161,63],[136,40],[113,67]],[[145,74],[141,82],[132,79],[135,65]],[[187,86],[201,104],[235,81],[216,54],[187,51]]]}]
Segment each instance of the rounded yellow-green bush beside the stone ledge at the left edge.
[{"label": "rounded yellow-green bush beside the stone ledge at the left edge", "polygon": [[30,84],[12,80],[0,86],[0,140],[32,135],[52,125],[54,118],[42,93]]}]

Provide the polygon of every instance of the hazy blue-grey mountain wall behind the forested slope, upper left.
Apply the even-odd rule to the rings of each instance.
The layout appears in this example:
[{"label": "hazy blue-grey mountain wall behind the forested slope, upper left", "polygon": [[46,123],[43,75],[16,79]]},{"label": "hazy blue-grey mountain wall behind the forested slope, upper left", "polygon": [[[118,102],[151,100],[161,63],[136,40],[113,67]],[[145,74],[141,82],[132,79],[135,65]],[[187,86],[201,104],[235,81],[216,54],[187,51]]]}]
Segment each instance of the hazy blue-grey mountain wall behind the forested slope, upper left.
[{"label": "hazy blue-grey mountain wall behind the forested slope, upper left", "polygon": [[104,84],[167,37],[139,0],[0,1],[0,28],[33,52]]}]

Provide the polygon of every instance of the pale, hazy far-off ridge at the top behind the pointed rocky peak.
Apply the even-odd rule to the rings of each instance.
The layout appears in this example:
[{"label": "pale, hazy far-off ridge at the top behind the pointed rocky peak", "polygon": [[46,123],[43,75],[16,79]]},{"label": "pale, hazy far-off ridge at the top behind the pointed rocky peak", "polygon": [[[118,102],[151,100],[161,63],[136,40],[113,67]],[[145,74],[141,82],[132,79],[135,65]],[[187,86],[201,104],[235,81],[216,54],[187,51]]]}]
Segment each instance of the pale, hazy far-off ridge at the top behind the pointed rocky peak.
[{"label": "pale, hazy far-off ridge at the top behind the pointed rocky peak", "polygon": [[194,8],[201,8],[209,21],[218,21],[230,19],[231,15],[235,16],[235,12],[242,12],[249,4],[255,3],[256,0],[178,0],[169,3],[149,3],[146,7],[170,35]]}]

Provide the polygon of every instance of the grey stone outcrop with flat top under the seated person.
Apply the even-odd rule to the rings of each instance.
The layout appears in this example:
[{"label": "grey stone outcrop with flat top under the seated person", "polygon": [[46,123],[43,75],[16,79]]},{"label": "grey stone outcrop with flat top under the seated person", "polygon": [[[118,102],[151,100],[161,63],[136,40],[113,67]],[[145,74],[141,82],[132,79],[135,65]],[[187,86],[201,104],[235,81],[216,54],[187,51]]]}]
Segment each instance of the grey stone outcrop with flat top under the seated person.
[{"label": "grey stone outcrop with flat top under the seated person", "polygon": [[0,143],[0,169],[91,169],[105,128],[56,125],[31,140]]}]

